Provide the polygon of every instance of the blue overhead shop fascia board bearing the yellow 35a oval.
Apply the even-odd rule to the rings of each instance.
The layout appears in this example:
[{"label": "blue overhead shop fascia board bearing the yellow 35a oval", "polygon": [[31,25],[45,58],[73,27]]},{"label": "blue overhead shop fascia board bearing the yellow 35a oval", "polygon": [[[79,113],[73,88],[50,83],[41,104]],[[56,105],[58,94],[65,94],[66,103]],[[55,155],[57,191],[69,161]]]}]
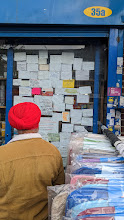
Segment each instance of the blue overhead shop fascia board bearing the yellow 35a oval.
[{"label": "blue overhead shop fascia board bearing the yellow 35a oval", "polygon": [[4,0],[1,24],[124,25],[124,0]]}]

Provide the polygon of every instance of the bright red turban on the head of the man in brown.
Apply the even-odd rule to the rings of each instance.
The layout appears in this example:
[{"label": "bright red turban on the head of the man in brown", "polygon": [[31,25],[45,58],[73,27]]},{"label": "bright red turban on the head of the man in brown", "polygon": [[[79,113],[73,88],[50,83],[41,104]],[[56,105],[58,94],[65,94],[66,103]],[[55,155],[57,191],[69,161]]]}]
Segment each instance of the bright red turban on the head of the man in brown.
[{"label": "bright red turban on the head of the man in brown", "polygon": [[41,110],[32,102],[23,102],[13,106],[8,114],[10,125],[17,130],[38,128]]}]

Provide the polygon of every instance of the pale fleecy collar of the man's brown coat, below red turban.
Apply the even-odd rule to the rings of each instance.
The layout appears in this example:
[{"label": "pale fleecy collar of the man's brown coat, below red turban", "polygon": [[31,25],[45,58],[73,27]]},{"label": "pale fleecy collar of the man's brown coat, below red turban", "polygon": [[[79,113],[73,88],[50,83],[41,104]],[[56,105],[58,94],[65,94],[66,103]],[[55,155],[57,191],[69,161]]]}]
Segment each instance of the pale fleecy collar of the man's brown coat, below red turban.
[{"label": "pale fleecy collar of the man's brown coat, below red turban", "polygon": [[8,143],[12,143],[14,141],[32,139],[32,138],[42,138],[42,137],[38,133],[19,134],[19,135],[16,135],[14,138],[12,138]]}]

